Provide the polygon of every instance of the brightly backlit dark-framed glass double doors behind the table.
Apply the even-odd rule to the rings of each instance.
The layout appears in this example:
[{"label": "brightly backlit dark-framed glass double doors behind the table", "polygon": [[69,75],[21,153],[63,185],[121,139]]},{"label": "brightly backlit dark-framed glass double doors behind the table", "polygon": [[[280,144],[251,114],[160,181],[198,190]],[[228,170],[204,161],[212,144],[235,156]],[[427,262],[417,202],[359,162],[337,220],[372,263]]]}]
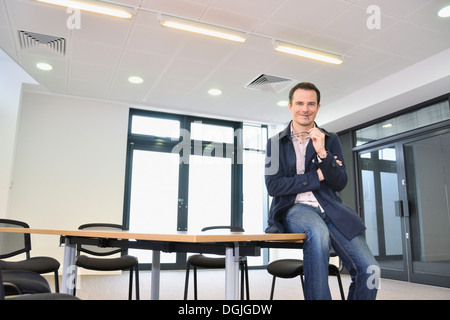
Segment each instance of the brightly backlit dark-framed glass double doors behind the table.
[{"label": "brightly backlit dark-framed glass double doors behind the table", "polygon": [[[136,232],[199,232],[240,225],[240,124],[144,111],[130,113],[124,225]],[[143,268],[151,252],[130,250]],[[186,254],[163,253],[164,268]]]}]

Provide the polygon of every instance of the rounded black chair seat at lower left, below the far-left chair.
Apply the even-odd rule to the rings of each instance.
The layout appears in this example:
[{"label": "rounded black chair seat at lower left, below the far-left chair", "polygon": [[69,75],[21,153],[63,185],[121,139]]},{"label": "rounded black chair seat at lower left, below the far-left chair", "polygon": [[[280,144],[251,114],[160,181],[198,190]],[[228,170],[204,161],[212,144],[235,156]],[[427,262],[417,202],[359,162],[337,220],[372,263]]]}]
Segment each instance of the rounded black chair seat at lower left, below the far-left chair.
[{"label": "rounded black chair seat at lower left, below the far-left chair", "polygon": [[28,270],[3,270],[3,282],[16,285],[22,294],[50,293],[50,286],[44,277]]}]

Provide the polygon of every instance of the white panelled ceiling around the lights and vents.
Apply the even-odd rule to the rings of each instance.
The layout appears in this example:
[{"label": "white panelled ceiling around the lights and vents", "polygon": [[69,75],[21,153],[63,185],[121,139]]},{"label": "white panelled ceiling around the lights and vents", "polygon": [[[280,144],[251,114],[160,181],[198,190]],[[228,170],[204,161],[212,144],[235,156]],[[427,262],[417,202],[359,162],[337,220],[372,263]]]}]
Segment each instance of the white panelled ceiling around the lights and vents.
[{"label": "white panelled ceiling around the lights and vents", "polygon": [[[113,1],[105,1],[113,2]],[[319,125],[339,131],[450,90],[448,0],[117,0],[130,20],[82,12],[68,28],[66,8],[0,0],[0,47],[43,90],[158,111],[260,123],[290,119],[289,87],[245,86],[261,74],[310,81],[322,92]],[[376,3],[380,19],[373,11]],[[164,28],[158,14],[248,33],[245,43]],[[71,20],[72,19],[72,20]],[[368,21],[381,22],[371,29]],[[21,46],[19,31],[61,37],[65,52]],[[336,66],[273,50],[273,39],[338,53]],[[37,62],[53,65],[38,70]],[[128,82],[131,75],[142,84]],[[290,83],[292,86],[294,83]],[[221,96],[208,90],[219,88]]]}]

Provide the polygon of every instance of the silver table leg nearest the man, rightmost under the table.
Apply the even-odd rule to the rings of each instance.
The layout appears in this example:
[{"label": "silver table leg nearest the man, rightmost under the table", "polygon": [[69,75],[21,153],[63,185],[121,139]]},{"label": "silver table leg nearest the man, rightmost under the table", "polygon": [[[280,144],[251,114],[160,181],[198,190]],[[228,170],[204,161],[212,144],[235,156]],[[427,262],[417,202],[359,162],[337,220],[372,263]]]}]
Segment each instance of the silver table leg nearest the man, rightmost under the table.
[{"label": "silver table leg nearest the man, rightmost under the table", "polygon": [[239,299],[239,247],[225,250],[225,299]]}]

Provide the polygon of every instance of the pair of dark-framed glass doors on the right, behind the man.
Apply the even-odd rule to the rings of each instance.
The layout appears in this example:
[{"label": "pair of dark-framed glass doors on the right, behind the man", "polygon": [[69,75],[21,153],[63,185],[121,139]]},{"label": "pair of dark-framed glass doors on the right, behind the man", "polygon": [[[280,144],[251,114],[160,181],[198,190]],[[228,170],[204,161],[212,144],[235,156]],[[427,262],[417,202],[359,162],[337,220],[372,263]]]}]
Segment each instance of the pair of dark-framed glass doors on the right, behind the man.
[{"label": "pair of dark-framed glass doors on the right, behind the man", "polygon": [[450,133],[358,153],[366,239],[382,276],[450,287]]}]

